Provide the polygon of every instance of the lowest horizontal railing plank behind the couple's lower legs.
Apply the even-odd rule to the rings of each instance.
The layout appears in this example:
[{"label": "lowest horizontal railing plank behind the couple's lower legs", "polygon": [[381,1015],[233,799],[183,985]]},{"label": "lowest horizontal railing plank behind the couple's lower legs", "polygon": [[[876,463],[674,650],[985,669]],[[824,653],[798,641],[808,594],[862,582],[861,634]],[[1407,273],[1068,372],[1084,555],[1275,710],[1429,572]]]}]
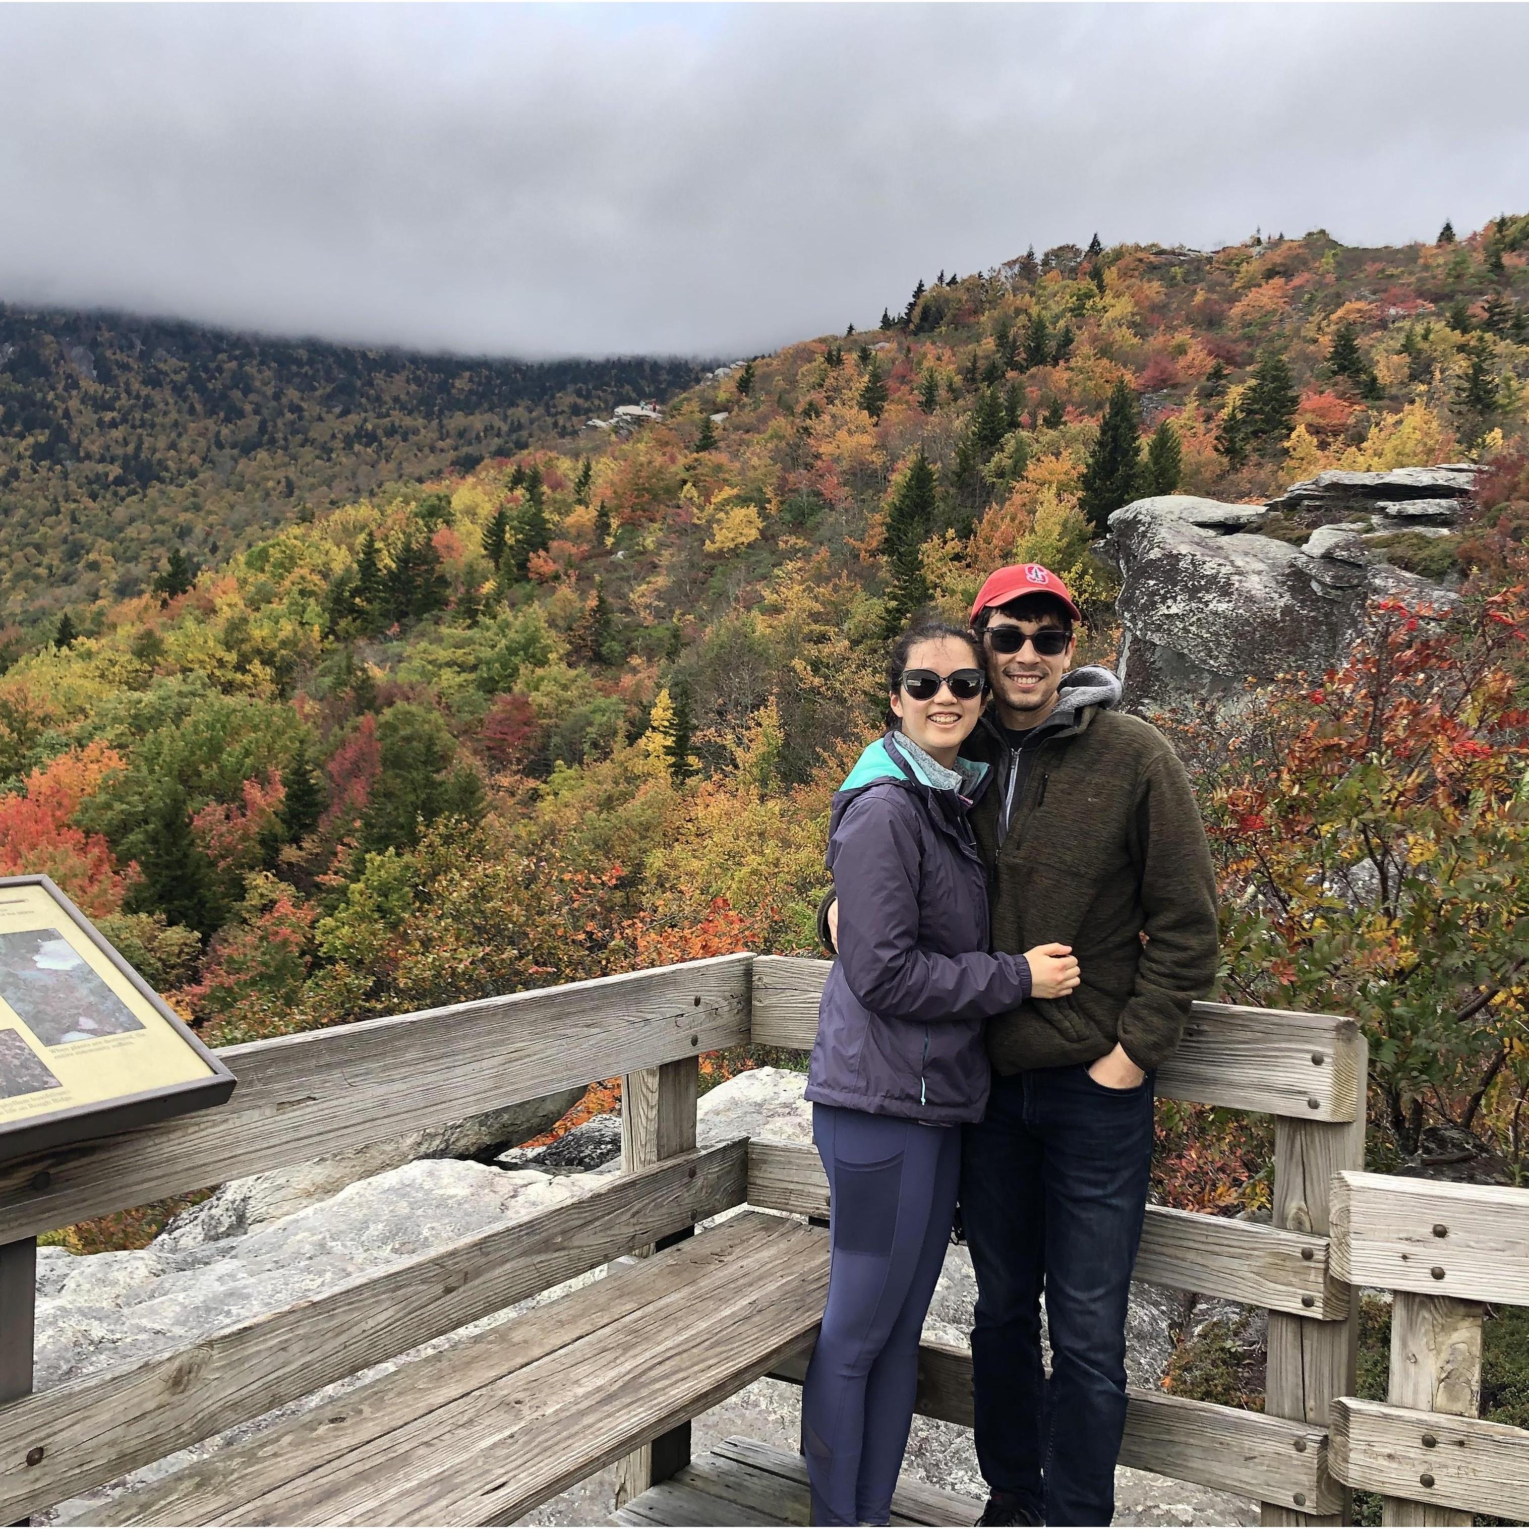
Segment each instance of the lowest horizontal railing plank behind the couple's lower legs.
[{"label": "lowest horizontal railing plank behind the couple's lower legs", "polygon": [[[806,1347],[771,1373],[800,1385],[809,1356]],[[914,1405],[925,1417],[969,1428],[971,1353],[922,1342]],[[1326,1428],[1136,1387],[1128,1391],[1121,1465],[1316,1512],[1336,1512],[1341,1501],[1327,1474]]]}]

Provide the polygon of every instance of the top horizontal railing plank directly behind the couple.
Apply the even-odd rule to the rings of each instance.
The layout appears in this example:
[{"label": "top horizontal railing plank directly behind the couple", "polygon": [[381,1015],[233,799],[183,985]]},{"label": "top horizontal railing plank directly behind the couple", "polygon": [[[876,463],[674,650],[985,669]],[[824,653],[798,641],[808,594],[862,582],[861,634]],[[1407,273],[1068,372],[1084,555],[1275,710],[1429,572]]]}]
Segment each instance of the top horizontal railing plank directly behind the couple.
[{"label": "top horizontal railing plank directly behind the couple", "polygon": [[[752,1038],[758,1044],[812,1047],[830,965],[797,956],[755,957]],[[1361,1041],[1353,1020],[1329,1014],[1197,1003],[1182,1044],[1157,1073],[1157,1093],[1303,1121],[1352,1121],[1361,1113]]]}]

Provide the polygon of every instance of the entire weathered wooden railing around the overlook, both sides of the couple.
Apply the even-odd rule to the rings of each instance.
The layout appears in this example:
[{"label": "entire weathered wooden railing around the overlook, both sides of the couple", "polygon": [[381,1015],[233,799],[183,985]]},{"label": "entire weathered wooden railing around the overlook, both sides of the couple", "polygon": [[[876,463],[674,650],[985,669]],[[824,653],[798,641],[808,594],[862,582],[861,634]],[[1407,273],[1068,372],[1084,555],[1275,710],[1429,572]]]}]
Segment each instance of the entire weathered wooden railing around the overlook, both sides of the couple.
[{"label": "entire weathered wooden railing around the overlook, both sides of the couple", "polygon": [[[17,1316],[23,1292],[31,1290],[29,1238],[37,1232],[616,1073],[625,1084],[625,1171],[592,1194],[390,1264],[179,1352],[0,1405],[0,1523],[615,1258],[662,1248],[745,1200],[823,1216],[827,1187],[809,1148],[755,1141],[696,1150],[696,1060],[749,1040],[809,1047],[826,972],[826,962],[728,956],[232,1047],[222,1055],[239,1087],[226,1107],[0,1165],[0,1385],[23,1370],[29,1384],[31,1315],[24,1365]],[[1402,1194],[1449,1191],[1349,1171],[1362,1167],[1364,1087],[1365,1046],[1352,1021],[1217,1005],[1196,1008],[1183,1046],[1157,1078],[1167,1096],[1275,1118],[1274,1225],[1154,1206],[1138,1264],[1138,1277],[1154,1284],[1268,1307],[1268,1411],[1133,1391],[1122,1460],[1255,1497],[1266,1523],[1341,1521],[1346,1483],[1379,1482],[1376,1489],[1408,1495],[1408,1483],[1394,1471],[1387,1475],[1391,1466],[1378,1462],[1399,1448],[1385,1430],[1394,1433],[1405,1422],[1416,1431],[1411,1414],[1404,1422],[1391,1414],[1417,1401],[1414,1393],[1393,1391],[1381,1414],[1350,1401],[1356,1335],[1350,1283],[1410,1292],[1434,1303],[1428,1307],[1434,1318],[1440,1300],[1529,1300],[1529,1243],[1511,1240],[1506,1217],[1436,1212],[1427,1202],[1422,1220],[1433,1216],[1449,1228],[1449,1257],[1431,1263],[1417,1263],[1413,1220],[1407,1222],[1413,1240],[1384,1240],[1394,1185]],[[1373,1188],[1376,1182],[1384,1193]],[[1520,1216],[1512,1225],[1523,1225],[1526,1199],[1512,1200]],[[1382,1209],[1372,1214],[1372,1205]],[[1497,1245],[1486,1240],[1491,1228]],[[1431,1237],[1431,1223],[1425,1231]],[[1514,1260],[1518,1274],[1509,1277],[1501,1266]],[[1445,1269],[1442,1280],[1431,1274],[1437,1264]],[[783,1373],[800,1376],[803,1364],[798,1355]],[[12,1394],[18,1390],[24,1387],[12,1384]],[[1443,1382],[1430,1393],[1431,1413],[1459,1410],[1442,1405],[1442,1394],[1449,1394]],[[0,1402],[6,1399],[0,1391]],[[969,1355],[925,1346],[919,1408],[969,1425]],[[1445,1425],[1456,1433],[1440,1433]],[[1459,1503],[1466,1488],[1456,1482],[1469,1475],[1460,1466],[1466,1457],[1508,1449],[1501,1459],[1518,1460],[1512,1451],[1521,1439],[1512,1430],[1505,1445],[1494,1425],[1465,1431],[1456,1417],[1434,1417],[1428,1427],[1437,1434],[1436,1456],[1446,1453],[1446,1439],[1457,1451],[1449,1456],[1454,1475],[1433,1472],[1449,1485],[1434,1488],[1431,1503]],[[1466,1443],[1454,1443],[1457,1437]],[[621,1495],[671,1475],[688,1454],[688,1425],[648,1440],[622,1463]],[[1469,1491],[1479,1495],[1469,1506],[1489,1500],[1498,1506],[1488,1511],[1503,1512],[1515,1489],[1521,1509],[1521,1486],[1475,1482]]]}]

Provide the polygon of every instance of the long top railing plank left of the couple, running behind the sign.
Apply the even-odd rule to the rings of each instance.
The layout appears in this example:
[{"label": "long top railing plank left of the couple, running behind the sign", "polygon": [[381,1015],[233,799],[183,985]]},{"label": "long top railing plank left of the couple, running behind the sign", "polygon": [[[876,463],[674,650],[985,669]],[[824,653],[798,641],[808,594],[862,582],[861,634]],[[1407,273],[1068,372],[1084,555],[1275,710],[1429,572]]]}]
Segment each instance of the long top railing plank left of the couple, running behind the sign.
[{"label": "long top railing plank left of the couple, running behind the sign", "polygon": [[0,1242],[748,1040],[719,956],[220,1052],[232,1099],[0,1164]]}]

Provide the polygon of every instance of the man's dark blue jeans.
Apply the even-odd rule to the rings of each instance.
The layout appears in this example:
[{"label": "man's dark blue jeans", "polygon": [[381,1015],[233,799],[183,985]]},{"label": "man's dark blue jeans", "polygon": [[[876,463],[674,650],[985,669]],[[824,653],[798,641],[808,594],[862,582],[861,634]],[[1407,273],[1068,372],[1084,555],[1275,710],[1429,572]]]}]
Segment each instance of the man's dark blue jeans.
[{"label": "man's dark blue jeans", "polygon": [[1125,1304],[1151,1145],[1151,1076],[1105,1089],[1087,1067],[994,1075],[986,1119],[965,1127],[977,1463],[991,1491],[1047,1524],[1107,1524],[1115,1514]]}]

